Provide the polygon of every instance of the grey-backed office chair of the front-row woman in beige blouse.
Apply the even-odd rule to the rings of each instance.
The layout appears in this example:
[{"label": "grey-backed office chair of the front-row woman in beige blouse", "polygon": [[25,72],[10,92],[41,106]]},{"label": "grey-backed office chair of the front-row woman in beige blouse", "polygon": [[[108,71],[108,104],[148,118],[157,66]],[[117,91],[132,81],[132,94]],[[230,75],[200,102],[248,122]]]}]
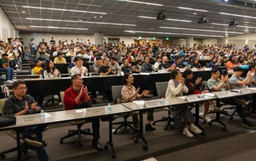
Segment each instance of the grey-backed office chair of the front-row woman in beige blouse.
[{"label": "grey-backed office chair of the front-row woman in beige blouse", "polygon": [[[114,104],[117,104],[117,100],[122,98],[122,95],[121,95],[122,88],[123,88],[123,86],[112,86],[112,87],[111,87],[112,99],[113,99],[113,101],[114,101]],[[125,129],[127,129],[127,126],[128,126],[129,128],[131,128],[131,129],[135,132],[135,128],[131,125],[131,124],[133,124],[133,122],[127,121],[127,118],[128,118],[129,116],[131,116],[131,114],[123,114],[123,115],[119,115],[119,116],[123,116],[123,117],[124,117],[124,121],[117,122],[117,123],[112,123],[112,125],[119,125],[119,126],[115,129],[114,134],[117,134],[117,131],[118,131],[120,128],[122,128],[122,127],[124,127]]]}]

